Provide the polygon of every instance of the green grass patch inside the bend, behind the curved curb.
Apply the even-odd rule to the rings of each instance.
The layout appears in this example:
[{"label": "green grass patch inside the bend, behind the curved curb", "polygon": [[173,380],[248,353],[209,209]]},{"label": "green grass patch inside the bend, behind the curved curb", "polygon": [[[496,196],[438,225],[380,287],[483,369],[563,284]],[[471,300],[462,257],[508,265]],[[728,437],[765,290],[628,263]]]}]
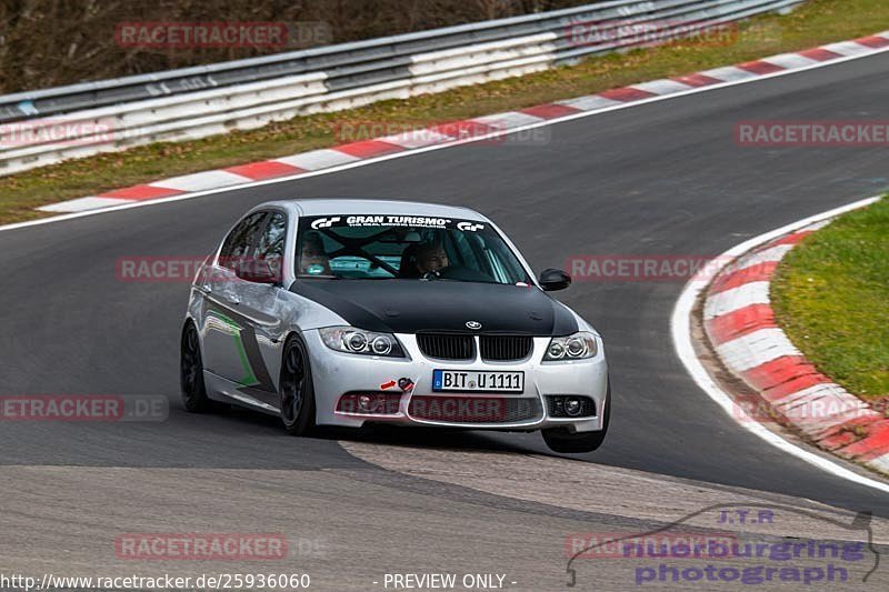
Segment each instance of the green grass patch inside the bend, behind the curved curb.
[{"label": "green grass patch inside the bend, behind the curved curb", "polygon": [[889,398],[889,198],[807,237],[771,287],[781,328],[850,392]]}]

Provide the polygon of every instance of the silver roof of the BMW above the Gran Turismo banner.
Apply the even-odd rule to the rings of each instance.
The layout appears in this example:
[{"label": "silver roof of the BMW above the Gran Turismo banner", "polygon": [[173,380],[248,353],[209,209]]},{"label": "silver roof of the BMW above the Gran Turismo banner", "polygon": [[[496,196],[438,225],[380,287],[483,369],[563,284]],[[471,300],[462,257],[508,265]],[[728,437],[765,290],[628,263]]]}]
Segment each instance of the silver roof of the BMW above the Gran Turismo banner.
[{"label": "silver roof of the BMW above the Gran Turismo banner", "polygon": [[[279,205],[294,209],[299,215],[330,214],[399,214],[459,218],[462,220],[489,221],[480,213],[459,205],[423,203],[419,201],[376,200],[376,199],[301,199],[280,200],[260,205]],[[257,208],[257,209],[259,209]]]}]

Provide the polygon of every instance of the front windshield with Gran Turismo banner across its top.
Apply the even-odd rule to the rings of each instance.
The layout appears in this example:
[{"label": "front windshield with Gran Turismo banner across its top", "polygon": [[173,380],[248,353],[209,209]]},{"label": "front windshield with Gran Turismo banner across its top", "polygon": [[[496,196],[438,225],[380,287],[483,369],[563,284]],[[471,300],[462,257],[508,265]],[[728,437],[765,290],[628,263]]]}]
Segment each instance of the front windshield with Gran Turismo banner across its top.
[{"label": "front windshield with Gran Turismo banner across its top", "polygon": [[298,278],[530,284],[488,223],[417,215],[301,218]]}]

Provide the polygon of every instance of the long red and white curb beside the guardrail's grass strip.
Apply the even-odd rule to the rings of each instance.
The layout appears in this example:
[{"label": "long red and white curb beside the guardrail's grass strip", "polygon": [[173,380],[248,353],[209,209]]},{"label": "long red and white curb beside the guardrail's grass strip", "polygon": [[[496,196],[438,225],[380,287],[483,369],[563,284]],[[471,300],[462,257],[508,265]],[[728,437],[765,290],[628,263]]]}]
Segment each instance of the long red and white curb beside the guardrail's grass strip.
[{"label": "long red and white curb beside the guardrail's grass strip", "polygon": [[761,60],[715,68],[693,74],[671,79],[642,82],[630,87],[611,89],[599,94],[557,101],[517,111],[507,111],[470,120],[455,121],[429,129],[404,132],[398,136],[377,138],[341,144],[334,148],[313,150],[290,157],[262,162],[240,164],[228,169],[203,171],[173,177],[147,184],[128,187],[98,195],[89,195],[38,208],[46,212],[82,212],[127,203],[136,203],[198,191],[219,189],[264,181],[276,178],[298,178],[314,171],[374,159],[398,152],[465,142],[468,138],[483,138],[505,131],[559,120],[579,113],[591,114],[608,111],[619,106],[648,101],[691,92],[705,87],[737,83],[778,73],[805,70],[818,64],[845,60],[886,51],[889,48],[889,31],[873,36],[829,43],[795,53],[781,53]]}]

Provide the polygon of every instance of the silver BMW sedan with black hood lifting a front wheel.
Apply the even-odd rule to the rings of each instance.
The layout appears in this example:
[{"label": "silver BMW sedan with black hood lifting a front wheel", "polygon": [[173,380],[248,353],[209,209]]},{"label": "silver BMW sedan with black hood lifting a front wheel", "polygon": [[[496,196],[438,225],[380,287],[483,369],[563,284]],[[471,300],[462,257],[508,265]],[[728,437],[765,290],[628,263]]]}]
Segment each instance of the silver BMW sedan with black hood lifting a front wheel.
[{"label": "silver BMW sedan with black hood lifting a front wheel", "polygon": [[542,432],[599,448],[611,410],[596,330],[465,208],[274,201],[198,271],[181,339],[182,399],[279,415],[303,434],[366,423]]}]

